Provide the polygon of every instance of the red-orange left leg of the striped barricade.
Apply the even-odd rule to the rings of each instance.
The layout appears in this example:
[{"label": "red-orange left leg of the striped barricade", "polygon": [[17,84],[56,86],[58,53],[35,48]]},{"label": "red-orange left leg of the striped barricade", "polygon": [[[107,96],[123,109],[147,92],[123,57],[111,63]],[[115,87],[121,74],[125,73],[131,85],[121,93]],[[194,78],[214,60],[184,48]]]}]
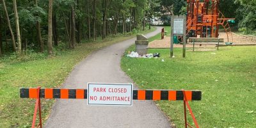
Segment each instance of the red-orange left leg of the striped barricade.
[{"label": "red-orange left leg of the striped barricade", "polygon": [[38,124],[36,127],[41,127],[41,128],[42,128],[40,86],[38,86],[38,88],[37,88],[37,98],[36,98],[35,111],[34,111],[34,115],[33,115],[33,122],[32,122],[31,128],[35,128],[37,109],[39,109],[39,110],[38,110],[38,114],[39,114],[39,124]]}]

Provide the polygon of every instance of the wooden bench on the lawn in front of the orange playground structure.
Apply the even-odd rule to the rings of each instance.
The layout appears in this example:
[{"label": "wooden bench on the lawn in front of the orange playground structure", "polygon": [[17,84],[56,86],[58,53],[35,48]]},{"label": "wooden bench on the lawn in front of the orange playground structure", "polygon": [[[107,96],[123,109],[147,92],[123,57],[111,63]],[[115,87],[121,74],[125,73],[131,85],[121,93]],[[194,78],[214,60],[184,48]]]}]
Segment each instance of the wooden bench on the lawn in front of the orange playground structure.
[{"label": "wooden bench on the lawn in front of the orange playground structure", "polygon": [[195,38],[189,37],[189,44],[193,44],[193,51],[195,49],[195,44],[216,44],[217,50],[219,50],[219,45],[224,43],[224,38]]}]

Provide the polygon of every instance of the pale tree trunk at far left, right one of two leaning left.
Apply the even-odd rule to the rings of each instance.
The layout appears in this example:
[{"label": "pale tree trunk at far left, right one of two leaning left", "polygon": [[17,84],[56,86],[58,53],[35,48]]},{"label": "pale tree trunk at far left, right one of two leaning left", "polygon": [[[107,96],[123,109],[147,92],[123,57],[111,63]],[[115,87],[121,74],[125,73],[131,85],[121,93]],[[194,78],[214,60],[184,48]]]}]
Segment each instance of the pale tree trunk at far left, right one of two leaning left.
[{"label": "pale tree trunk at far left, right one of two leaning left", "polygon": [[20,26],[19,26],[19,15],[17,11],[17,3],[16,0],[13,0],[13,10],[15,15],[15,24],[16,24],[16,34],[17,34],[17,43],[18,43],[18,49],[17,52],[21,52],[21,40],[20,40]]}]

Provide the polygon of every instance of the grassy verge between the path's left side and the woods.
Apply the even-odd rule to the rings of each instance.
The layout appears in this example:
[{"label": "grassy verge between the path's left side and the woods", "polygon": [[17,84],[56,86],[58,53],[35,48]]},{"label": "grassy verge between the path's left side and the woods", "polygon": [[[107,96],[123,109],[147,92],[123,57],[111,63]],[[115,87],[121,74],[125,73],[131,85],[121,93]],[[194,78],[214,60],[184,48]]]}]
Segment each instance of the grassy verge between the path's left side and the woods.
[{"label": "grassy verge between the path's left side and the woods", "polygon": [[[151,30],[143,31],[148,33]],[[59,87],[72,68],[93,51],[106,47],[134,35],[111,36],[97,42],[78,44],[76,49],[55,49],[55,56],[30,53],[17,58],[15,55],[0,59],[0,126],[31,127],[35,100],[20,99],[20,87]],[[54,100],[42,100],[42,118],[47,119]]]}]

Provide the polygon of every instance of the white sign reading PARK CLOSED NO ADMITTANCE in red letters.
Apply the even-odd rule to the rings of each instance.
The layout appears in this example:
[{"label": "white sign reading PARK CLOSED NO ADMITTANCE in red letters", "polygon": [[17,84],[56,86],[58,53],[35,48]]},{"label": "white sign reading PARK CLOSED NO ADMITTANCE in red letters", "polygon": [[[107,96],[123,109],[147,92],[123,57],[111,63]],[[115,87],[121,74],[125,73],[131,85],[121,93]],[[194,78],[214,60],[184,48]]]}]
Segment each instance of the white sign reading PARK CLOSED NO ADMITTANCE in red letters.
[{"label": "white sign reading PARK CLOSED NO ADMITTANCE in red letters", "polygon": [[132,84],[88,83],[87,104],[132,106]]}]

